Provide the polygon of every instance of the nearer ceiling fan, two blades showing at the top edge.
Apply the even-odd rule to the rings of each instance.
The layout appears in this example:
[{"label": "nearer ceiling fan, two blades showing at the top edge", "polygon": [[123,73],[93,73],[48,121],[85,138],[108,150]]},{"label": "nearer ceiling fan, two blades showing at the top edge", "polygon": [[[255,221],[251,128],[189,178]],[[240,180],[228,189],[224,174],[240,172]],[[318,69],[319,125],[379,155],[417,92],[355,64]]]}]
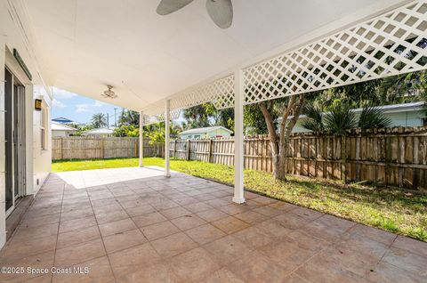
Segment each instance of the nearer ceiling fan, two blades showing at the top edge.
[{"label": "nearer ceiling fan, two blades showing at the top edge", "polygon": [[[157,6],[159,15],[175,12],[193,2],[193,0],[161,0]],[[206,0],[206,10],[214,23],[220,28],[230,28],[233,22],[233,4],[231,0]]]}]

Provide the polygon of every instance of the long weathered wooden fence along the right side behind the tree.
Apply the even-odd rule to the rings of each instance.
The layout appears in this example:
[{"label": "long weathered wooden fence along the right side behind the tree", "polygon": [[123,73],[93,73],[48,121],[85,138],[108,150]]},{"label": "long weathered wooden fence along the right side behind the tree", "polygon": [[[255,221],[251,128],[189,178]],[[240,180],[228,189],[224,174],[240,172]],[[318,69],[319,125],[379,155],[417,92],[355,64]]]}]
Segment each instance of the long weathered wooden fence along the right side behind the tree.
[{"label": "long weathered wooden fence along the right side behind the tree", "polygon": [[[234,140],[172,141],[170,155],[232,166]],[[272,171],[268,136],[246,137],[245,168]],[[294,133],[287,173],[427,191],[427,127],[353,130],[345,138]]]}]

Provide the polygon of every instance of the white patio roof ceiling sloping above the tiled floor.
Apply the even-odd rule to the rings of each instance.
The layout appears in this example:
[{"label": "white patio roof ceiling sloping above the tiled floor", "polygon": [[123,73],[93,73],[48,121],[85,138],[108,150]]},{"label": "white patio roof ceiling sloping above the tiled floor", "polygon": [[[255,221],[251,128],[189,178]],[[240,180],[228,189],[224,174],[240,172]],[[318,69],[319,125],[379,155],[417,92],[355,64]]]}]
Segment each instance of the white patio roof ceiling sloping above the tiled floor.
[{"label": "white patio roof ceiling sloping above the tiled floor", "polygon": [[168,16],[157,15],[157,0],[24,2],[50,85],[97,100],[113,85],[118,98],[110,103],[139,110],[313,29],[399,0],[233,0],[228,29],[208,18],[205,0]]}]

